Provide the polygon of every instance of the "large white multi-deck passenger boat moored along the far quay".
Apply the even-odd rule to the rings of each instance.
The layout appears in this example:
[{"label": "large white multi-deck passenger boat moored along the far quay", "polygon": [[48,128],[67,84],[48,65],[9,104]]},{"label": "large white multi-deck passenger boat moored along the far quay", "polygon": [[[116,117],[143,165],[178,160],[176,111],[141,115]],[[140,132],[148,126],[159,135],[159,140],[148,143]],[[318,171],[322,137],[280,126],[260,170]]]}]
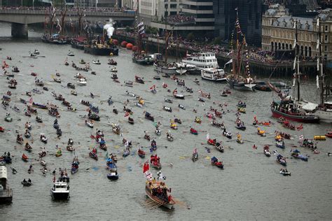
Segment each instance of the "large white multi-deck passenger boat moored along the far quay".
[{"label": "large white multi-deck passenger boat moored along the far quay", "polygon": [[186,65],[194,65],[199,71],[202,69],[218,69],[219,65],[214,52],[200,52],[192,55],[186,55],[182,59]]}]

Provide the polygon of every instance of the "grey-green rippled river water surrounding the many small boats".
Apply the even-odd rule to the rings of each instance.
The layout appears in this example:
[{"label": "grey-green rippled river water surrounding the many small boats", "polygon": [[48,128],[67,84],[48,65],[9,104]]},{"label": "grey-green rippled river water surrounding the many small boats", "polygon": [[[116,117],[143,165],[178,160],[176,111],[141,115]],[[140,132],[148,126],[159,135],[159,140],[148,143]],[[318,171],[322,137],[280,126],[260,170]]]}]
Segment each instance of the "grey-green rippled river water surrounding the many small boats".
[{"label": "grey-green rippled river water surrounding the many small boats", "polygon": [[[49,87],[49,92],[43,94],[33,94],[33,99],[37,103],[46,104],[50,101],[60,106],[61,117],[59,124],[62,129],[62,137],[58,139],[53,129],[55,118],[48,115],[46,110],[39,109],[39,116],[43,117],[43,123],[39,124],[34,120],[34,115],[29,118],[24,113],[16,113],[8,110],[0,111],[0,125],[9,129],[4,134],[0,134],[0,151],[10,151],[13,155],[11,166],[18,170],[16,175],[8,172],[8,182],[13,189],[13,203],[0,206],[0,220],[88,220],[97,218],[99,220],[330,220],[332,212],[332,158],[326,155],[331,151],[331,140],[319,141],[317,147],[319,155],[313,155],[310,150],[298,148],[304,155],[310,155],[308,162],[302,162],[291,158],[291,145],[298,145],[298,136],[304,134],[307,138],[314,135],[325,134],[328,124],[305,124],[301,131],[289,131],[277,123],[271,117],[270,102],[273,98],[272,92],[237,92],[233,91],[229,97],[221,97],[219,90],[225,85],[209,83],[201,80],[200,86],[193,83],[195,76],[181,76],[186,81],[188,87],[193,87],[193,94],[184,92],[187,95],[181,104],[186,106],[186,110],[177,108],[179,101],[174,104],[165,104],[164,98],[170,97],[162,82],[169,85],[170,90],[174,90],[176,83],[173,80],[162,78],[153,80],[155,72],[151,66],[139,66],[131,62],[131,52],[121,49],[118,62],[118,76],[120,83],[124,80],[134,80],[134,76],[143,76],[146,84],[134,83],[134,87],[125,87],[122,84],[113,83],[111,80],[110,68],[106,64],[107,57],[94,57],[84,54],[80,50],[72,49],[70,45],[49,45],[32,38],[27,41],[13,41],[10,36],[10,26],[0,24],[0,57],[1,60],[6,56],[13,57],[12,61],[6,61],[10,66],[18,66],[20,73],[15,76],[18,80],[18,89],[13,92],[11,105],[24,109],[19,98],[29,99],[22,95],[36,86],[34,77],[30,76],[32,71],[39,74]],[[30,31],[29,36],[39,36],[40,33]],[[41,55],[38,59],[30,59],[29,51],[38,48]],[[69,62],[74,61],[78,64],[79,59],[90,62],[92,69],[97,72],[93,76],[88,72],[82,72],[87,77],[88,85],[85,87],[76,86],[78,96],[70,94],[67,83],[75,83],[77,71],[71,66],[64,66],[64,59],[69,50],[75,53],[75,57],[69,57]],[[102,64],[97,66],[92,64],[92,59],[99,59]],[[33,67],[32,67],[33,66]],[[8,69],[11,71],[11,67]],[[61,73],[62,83],[55,83],[52,77],[55,73]],[[1,72],[2,75],[2,72]],[[1,93],[8,90],[7,80],[0,76]],[[152,85],[157,86],[158,93],[148,92]],[[41,89],[41,88],[39,88]],[[198,90],[210,92],[212,99],[206,100],[205,105],[198,102]],[[314,84],[307,83],[305,86],[305,96],[314,97]],[[125,90],[139,94],[146,99],[146,106],[139,108],[134,106],[134,99],[125,95]],[[182,90],[178,87],[178,90]],[[50,94],[51,91],[61,93],[68,101],[78,108],[77,113],[68,112],[59,101]],[[95,99],[90,98],[89,94],[96,94]],[[127,123],[127,118],[120,111],[118,115],[112,113],[112,107],[106,102],[109,96],[116,102],[114,106],[122,110],[123,101],[130,100],[130,108],[134,111],[132,117],[135,124]],[[101,110],[101,121],[95,122],[95,128],[90,129],[85,126],[82,115],[87,114],[86,106],[79,104],[80,99],[88,100],[99,106]],[[241,115],[241,119],[247,124],[246,131],[235,129],[235,110],[239,100],[247,102],[247,113]],[[223,115],[219,122],[223,121],[228,130],[235,136],[237,132],[242,134],[244,144],[238,144],[233,140],[228,141],[221,136],[221,130],[212,127],[210,120],[205,117],[206,109],[209,106],[217,107],[212,102],[224,103],[224,107],[229,113]],[[162,110],[162,106],[172,106],[173,113]],[[193,113],[193,108],[198,113]],[[220,108],[219,108],[220,109]],[[148,158],[140,159],[136,154],[139,146],[144,146],[148,152],[149,142],[144,140],[144,130],[151,136],[155,136],[154,127],[151,121],[144,119],[144,110],[148,110],[162,124],[162,135],[156,138],[158,144],[157,153],[162,163],[162,173],[167,176],[167,185],[172,187],[172,195],[187,206],[177,205],[175,209],[169,211],[163,208],[148,208],[146,206],[146,195],[144,190],[145,178],[141,166]],[[4,122],[6,111],[10,112],[13,122]],[[194,122],[195,115],[202,117],[202,124]],[[179,117],[182,124],[179,124],[177,131],[172,130],[174,141],[166,140],[165,133],[170,129],[170,119]],[[256,134],[256,128],[251,126],[253,117],[257,116],[260,121],[271,120],[274,122],[272,127],[264,127],[268,135],[262,138]],[[27,153],[22,145],[15,142],[15,130],[24,133],[24,124],[32,122],[32,144],[33,151]],[[109,122],[119,122],[125,138],[133,141],[132,153],[125,159],[120,159],[123,145],[122,137],[113,134]],[[190,134],[190,127],[198,129],[198,136]],[[105,152],[98,150],[99,160],[95,161],[88,157],[89,148],[97,146],[90,138],[95,134],[96,129],[104,131],[108,152],[115,152],[118,155],[118,171],[120,178],[116,182],[111,182],[106,178]],[[263,155],[263,145],[271,144],[271,152],[275,150],[273,132],[275,129],[285,131],[293,136],[293,139],[286,140],[286,149],[278,150],[289,157],[287,159],[287,169],[291,171],[291,177],[284,177],[279,174],[280,165],[275,162],[275,156],[270,158]],[[48,137],[48,144],[44,145],[39,141],[39,134],[44,133]],[[210,153],[205,150],[206,134],[212,138],[223,141],[226,147],[225,152],[221,153],[212,148]],[[58,168],[70,170],[71,161],[74,153],[65,150],[68,138],[74,139],[76,155],[80,159],[78,173],[70,176],[70,199],[65,202],[53,201],[50,197],[50,187],[53,185],[51,171]],[[113,141],[112,141],[113,140]],[[202,145],[204,143],[204,145]],[[253,144],[258,146],[257,150],[252,148]],[[63,148],[63,155],[55,157],[55,145]],[[41,174],[41,166],[38,161],[38,152],[41,148],[46,148],[48,155],[44,157],[48,162],[47,176]],[[197,162],[191,161],[191,153],[194,148],[198,148],[199,159]],[[22,162],[20,159],[25,152],[31,159],[29,163]],[[225,169],[220,170],[209,163],[210,157],[217,157],[225,164]],[[149,157],[149,155],[147,155]],[[27,169],[29,164],[34,167],[34,172],[29,174]],[[8,168],[9,169],[9,168]],[[10,171],[10,169],[9,169]],[[157,171],[152,171],[154,174]],[[156,175],[156,174],[155,174]],[[24,178],[31,178],[34,183],[31,187],[22,187],[21,181]]]}]

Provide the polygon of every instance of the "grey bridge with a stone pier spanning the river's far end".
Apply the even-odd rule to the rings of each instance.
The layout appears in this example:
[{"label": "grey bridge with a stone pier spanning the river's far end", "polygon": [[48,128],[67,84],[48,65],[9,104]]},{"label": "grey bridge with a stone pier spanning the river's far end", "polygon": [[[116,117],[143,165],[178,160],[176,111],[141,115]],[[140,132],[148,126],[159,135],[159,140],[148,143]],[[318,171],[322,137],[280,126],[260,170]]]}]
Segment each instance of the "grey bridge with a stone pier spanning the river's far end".
[{"label": "grey bridge with a stone pier spanning the river's far end", "polygon": [[[60,20],[61,10],[56,10],[55,15]],[[28,24],[43,23],[50,13],[39,9],[1,9],[0,22],[11,22],[11,35],[16,38],[28,37]],[[77,10],[67,10],[65,21],[77,21]],[[135,14],[120,11],[83,11],[82,20],[89,22],[103,22],[112,19],[116,22],[134,22]],[[54,21],[54,19],[53,19]]]}]

